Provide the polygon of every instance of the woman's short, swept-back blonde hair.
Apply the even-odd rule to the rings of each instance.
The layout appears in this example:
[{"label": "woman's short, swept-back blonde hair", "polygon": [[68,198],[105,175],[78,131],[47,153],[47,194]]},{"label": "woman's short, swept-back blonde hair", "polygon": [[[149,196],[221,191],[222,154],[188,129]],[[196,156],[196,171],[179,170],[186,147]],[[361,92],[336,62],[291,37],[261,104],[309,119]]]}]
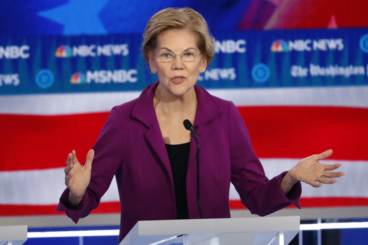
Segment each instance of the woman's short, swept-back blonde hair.
[{"label": "woman's short, swept-back blonde hair", "polygon": [[144,30],[142,53],[147,62],[148,53],[157,47],[158,36],[170,29],[185,29],[194,34],[199,51],[207,59],[207,64],[212,61],[215,55],[215,39],[203,16],[191,8],[165,8],[149,19]]}]

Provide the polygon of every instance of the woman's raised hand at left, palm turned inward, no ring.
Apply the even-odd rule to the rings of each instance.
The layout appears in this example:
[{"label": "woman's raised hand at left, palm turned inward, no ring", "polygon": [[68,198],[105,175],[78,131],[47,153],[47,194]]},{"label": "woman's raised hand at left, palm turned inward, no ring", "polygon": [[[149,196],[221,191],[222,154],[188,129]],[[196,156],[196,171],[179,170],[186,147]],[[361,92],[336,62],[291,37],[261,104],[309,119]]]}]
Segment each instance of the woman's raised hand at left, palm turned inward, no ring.
[{"label": "woman's raised hand at left, palm turned inward, no ring", "polygon": [[69,188],[69,201],[73,206],[77,206],[84,196],[89,181],[91,180],[92,160],[95,151],[90,149],[87,153],[86,162],[82,166],[73,150],[67,158],[65,172],[65,184]]}]

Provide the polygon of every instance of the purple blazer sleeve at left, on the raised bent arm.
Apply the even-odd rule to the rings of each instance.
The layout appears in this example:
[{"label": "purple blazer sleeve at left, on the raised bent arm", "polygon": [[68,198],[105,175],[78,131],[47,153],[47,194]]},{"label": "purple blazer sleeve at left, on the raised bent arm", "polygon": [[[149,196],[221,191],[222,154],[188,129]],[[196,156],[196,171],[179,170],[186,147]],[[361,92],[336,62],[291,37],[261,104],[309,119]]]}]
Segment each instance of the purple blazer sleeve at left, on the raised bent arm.
[{"label": "purple blazer sleeve at left, on the raised bent arm", "polygon": [[100,203],[103,194],[109,188],[111,181],[120,167],[127,131],[124,130],[121,113],[114,107],[102,127],[95,145],[95,156],[92,161],[91,181],[79,205],[72,209],[68,201],[69,189],[63,192],[56,210],[66,212],[75,223],[79,218],[86,217]]}]

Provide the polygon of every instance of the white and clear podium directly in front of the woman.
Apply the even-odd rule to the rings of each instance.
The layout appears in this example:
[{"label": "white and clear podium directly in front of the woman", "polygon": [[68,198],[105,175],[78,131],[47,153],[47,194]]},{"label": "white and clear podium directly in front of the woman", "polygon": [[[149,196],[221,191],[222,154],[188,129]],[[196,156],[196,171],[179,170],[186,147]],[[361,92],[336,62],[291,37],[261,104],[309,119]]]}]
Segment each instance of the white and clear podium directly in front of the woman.
[{"label": "white and clear podium directly in front of the woman", "polygon": [[119,245],[283,245],[299,228],[299,216],[138,221]]}]

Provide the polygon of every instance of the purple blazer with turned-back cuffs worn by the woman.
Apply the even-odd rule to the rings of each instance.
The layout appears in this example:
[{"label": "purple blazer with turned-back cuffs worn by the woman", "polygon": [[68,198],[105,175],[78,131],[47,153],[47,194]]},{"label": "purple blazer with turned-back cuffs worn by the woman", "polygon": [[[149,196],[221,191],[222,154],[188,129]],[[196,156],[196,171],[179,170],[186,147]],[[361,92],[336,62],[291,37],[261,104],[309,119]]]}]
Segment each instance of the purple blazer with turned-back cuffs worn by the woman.
[{"label": "purple blazer with turned-back cuffs worn by the woman", "polygon": [[[56,209],[77,223],[99,205],[115,175],[121,206],[119,243],[139,220],[176,219],[173,176],[153,108],[158,84],[152,83],[139,98],[111,110],[93,146],[91,182],[81,203],[74,210],[68,208],[67,188]],[[300,182],[285,195],[280,188],[285,172],[267,179],[235,105],[198,85],[194,89],[198,105],[193,125],[198,125],[199,133],[203,217],[230,217],[230,181],[251,213],[264,216],[291,204],[300,208]],[[190,219],[199,218],[196,164],[192,137],[187,171]]]}]

